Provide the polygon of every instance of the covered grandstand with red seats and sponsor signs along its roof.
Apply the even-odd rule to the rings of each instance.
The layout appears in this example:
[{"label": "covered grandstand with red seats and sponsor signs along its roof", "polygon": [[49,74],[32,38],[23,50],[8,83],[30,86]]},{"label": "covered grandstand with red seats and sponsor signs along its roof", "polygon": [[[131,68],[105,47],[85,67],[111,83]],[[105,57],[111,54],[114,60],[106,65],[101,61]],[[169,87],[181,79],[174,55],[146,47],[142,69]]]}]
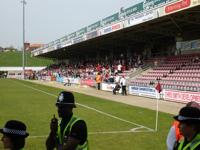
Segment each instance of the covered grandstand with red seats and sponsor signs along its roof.
[{"label": "covered grandstand with red seats and sponsor signs along its roof", "polygon": [[200,102],[199,25],[199,0],[145,0],[31,53],[56,60],[39,79],[95,86],[101,72],[111,91],[119,72],[129,94],[156,98],[159,82],[163,99]]}]

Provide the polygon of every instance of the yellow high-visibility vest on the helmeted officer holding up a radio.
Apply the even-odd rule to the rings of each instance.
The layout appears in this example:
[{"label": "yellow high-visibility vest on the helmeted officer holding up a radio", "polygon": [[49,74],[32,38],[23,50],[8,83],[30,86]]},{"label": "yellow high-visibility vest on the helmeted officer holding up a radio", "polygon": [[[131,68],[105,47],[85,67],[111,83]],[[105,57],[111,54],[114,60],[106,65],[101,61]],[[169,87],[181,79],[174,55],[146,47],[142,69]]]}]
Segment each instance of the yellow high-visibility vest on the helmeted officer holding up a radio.
[{"label": "yellow high-visibility vest on the helmeted officer holding up a radio", "polygon": [[[66,125],[66,127],[65,127],[65,129],[63,131],[63,134],[61,134],[60,125],[58,126],[58,131],[57,131],[58,149],[63,146],[64,136],[68,136],[70,134],[72,126],[79,120],[81,120],[81,119],[72,116],[70,121]],[[76,147],[76,150],[89,150],[88,140],[86,140],[83,145],[78,145]]]}]

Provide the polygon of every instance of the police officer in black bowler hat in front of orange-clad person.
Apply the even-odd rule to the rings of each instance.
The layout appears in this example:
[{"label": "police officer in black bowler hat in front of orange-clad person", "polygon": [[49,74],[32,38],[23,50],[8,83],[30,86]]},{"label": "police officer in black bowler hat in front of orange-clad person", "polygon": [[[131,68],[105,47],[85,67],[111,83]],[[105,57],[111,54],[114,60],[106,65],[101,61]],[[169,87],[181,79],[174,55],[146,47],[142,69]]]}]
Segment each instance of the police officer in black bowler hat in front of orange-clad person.
[{"label": "police officer in black bowler hat in front of orange-clad person", "polygon": [[174,150],[200,150],[200,110],[183,107],[174,117],[180,122],[179,128],[183,139],[175,144]]}]

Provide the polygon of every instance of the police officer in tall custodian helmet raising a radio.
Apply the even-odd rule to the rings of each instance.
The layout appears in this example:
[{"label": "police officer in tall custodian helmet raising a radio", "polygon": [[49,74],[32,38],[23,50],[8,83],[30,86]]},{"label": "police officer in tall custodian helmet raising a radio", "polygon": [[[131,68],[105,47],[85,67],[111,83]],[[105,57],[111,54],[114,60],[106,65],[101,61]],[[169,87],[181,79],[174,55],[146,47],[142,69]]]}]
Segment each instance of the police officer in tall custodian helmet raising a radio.
[{"label": "police officer in tall custodian helmet raising a radio", "polygon": [[51,131],[46,141],[47,150],[55,147],[58,150],[88,150],[86,123],[72,112],[76,107],[74,95],[71,92],[61,92],[56,106],[61,121],[58,123],[55,116],[51,120]]}]

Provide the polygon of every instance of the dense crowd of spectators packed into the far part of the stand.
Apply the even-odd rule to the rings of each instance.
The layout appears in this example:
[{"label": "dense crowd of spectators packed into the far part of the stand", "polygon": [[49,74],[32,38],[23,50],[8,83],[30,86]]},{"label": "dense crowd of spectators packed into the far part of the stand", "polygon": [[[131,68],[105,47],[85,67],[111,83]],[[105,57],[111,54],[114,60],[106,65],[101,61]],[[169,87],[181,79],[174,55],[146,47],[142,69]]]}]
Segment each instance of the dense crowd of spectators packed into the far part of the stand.
[{"label": "dense crowd of spectators packed into the far part of the stand", "polygon": [[[96,73],[100,72],[103,79],[105,79],[105,81],[108,81],[109,76],[112,73],[121,73],[127,70],[126,64],[126,59],[119,58],[108,58],[107,60],[96,60],[95,58],[93,58],[87,60],[78,60],[78,62],[71,61],[69,62],[69,64],[52,64],[46,69],[39,71],[37,73],[37,77],[38,79],[46,79],[46,76],[51,76],[51,78],[56,78],[60,76],[79,79],[94,79]],[[133,67],[133,65],[131,65],[130,67]]]}]

